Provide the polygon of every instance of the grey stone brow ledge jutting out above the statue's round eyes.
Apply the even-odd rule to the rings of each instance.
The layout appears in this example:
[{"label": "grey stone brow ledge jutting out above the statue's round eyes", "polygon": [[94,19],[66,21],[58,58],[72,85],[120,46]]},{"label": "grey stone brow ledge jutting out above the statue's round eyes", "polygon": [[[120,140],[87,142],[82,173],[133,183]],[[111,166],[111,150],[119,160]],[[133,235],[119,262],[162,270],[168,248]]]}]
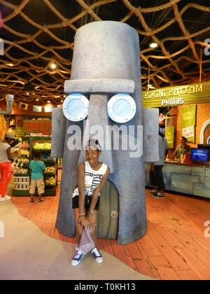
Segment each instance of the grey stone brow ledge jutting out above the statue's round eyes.
[{"label": "grey stone brow ledge jutting out above the statue's round eyes", "polygon": [[65,93],[78,92],[81,94],[96,93],[134,93],[134,80],[123,80],[117,78],[92,78],[86,80],[66,80],[64,83]]}]

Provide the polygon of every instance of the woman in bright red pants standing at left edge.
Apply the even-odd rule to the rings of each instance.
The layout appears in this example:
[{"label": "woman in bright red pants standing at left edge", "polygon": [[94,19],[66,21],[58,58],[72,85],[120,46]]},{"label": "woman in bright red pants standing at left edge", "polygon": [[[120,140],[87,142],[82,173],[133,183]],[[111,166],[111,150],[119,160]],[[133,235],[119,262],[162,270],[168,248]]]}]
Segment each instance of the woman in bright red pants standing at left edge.
[{"label": "woman in bright red pants standing at left edge", "polygon": [[8,183],[12,179],[12,168],[10,160],[11,156],[11,147],[10,143],[15,139],[12,133],[6,133],[5,139],[3,142],[0,142],[0,201],[10,200],[11,197],[6,195],[6,190],[8,188]]}]

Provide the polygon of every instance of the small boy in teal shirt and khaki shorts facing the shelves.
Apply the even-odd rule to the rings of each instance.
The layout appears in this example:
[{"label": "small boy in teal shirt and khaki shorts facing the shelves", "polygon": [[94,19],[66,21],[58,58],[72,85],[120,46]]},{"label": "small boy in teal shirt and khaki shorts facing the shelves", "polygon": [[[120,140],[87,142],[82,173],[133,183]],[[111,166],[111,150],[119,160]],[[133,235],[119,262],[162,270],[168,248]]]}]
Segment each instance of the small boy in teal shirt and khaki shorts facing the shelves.
[{"label": "small boy in teal shirt and khaki shorts facing the shelves", "polygon": [[43,171],[45,170],[45,164],[41,161],[41,151],[34,151],[34,160],[31,160],[29,169],[31,169],[30,202],[34,203],[36,187],[38,190],[38,202],[43,202],[42,194],[45,192]]}]

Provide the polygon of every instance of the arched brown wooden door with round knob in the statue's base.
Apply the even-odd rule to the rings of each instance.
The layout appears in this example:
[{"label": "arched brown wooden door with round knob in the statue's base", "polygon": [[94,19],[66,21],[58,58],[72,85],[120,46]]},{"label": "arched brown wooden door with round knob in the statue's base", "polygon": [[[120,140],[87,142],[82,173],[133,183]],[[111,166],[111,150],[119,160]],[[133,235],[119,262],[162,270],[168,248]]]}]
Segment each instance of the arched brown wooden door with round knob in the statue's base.
[{"label": "arched brown wooden door with round knob in the statue's base", "polygon": [[111,181],[106,181],[100,195],[97,237],[117,239],[119,219],[119,195]]}]

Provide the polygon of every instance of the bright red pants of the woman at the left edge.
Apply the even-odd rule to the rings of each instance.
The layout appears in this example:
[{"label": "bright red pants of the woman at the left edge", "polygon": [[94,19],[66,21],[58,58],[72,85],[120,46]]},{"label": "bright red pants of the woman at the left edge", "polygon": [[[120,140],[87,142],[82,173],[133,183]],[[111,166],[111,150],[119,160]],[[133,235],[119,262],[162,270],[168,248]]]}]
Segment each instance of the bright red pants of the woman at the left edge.
[{"label": "bright red pants of the woman at the left edge", "polygon": [[10,162],[0,163],[0,174],[1,174],[0,195],[1,197],[5,197],[8,183],[11,181],[12,174],[13,174],[13,169],[11,167]]}]

